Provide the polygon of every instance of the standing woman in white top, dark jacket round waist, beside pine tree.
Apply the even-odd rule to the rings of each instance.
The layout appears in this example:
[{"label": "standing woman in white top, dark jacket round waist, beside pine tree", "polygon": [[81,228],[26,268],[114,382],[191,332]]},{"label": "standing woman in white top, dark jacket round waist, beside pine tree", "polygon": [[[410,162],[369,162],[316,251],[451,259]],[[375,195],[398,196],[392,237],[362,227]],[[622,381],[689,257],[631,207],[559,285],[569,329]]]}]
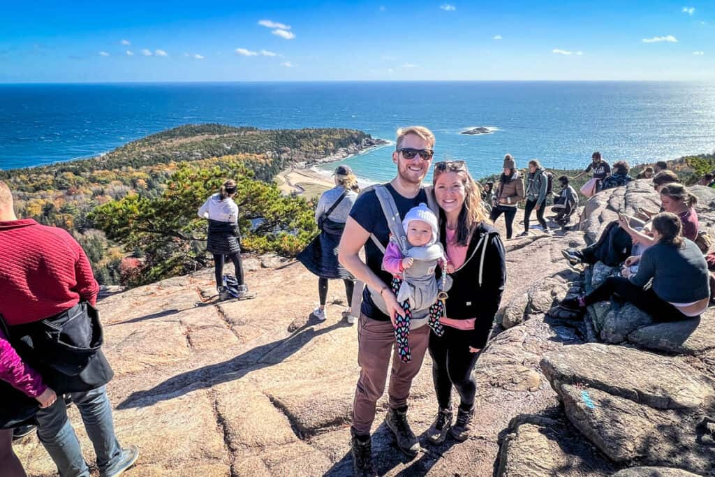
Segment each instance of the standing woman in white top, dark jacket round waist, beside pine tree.
[{"label": "standing woman in white top, dark jacket round waist, beside pine tree", "polygon": [[224,282],[223,267],[228,256],[236,269],[237,285],[235,297],[239,300],[253,298],[248,292],[243,277],[241,262],[240,232],[238,230],[238,206],[233,201],[236,195],[236,181],[229,179],[221,190],[209,197],[199,208],[199,217],[209,220],[209,237],[206,250],[214,255],[214,271],[219,300],[228,300],[233,295]]}]

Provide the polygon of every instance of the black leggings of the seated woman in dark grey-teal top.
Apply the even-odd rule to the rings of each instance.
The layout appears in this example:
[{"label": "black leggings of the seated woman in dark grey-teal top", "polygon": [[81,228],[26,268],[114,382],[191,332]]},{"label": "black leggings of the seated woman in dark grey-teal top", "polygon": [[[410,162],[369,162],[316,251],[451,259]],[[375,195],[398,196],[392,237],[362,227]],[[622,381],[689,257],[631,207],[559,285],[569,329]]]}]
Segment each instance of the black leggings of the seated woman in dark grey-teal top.
[{"label": "black leggings of the seated woman in dark grey-teal top", "polygon": [[662,300],[652,288],[644,290],[631,283],[626,277],[608,277],[596,290],[583,297],[586,305],[611,299],[611,295],[618,295],[623,300],[633,303],[636,307],[648,313],[656,321],[688,320],[690,317],[675,308],[670,303]]}]

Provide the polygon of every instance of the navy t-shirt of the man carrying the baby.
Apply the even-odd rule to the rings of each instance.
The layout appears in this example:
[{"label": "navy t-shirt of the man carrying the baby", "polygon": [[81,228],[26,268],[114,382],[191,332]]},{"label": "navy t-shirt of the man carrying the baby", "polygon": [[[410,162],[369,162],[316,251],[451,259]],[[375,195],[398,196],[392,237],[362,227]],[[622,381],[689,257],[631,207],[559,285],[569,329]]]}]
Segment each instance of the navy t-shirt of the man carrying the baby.
[{"label": "navy t-shirt of the man carrying the baby", "polygon": [[[427,193],[424,189],[420,190],[418,195],[413,199],[408,199],[401,196],[390,184],[385,184],[390,195],[393,196],[395,200],[395,205],[398,207],[400,212],[400,217],[405,217],[407,212],[420,205],[420,202],[427,203]],[[390,229],[388,228],[388,220],[385,219],[385,214],[383,213],[383,207],[380,206],[380,200],[378,196],[375,195],[374,190],[367,190],[360,194],[358,200],[352,205],[352,210],[350,210],[350,217],[352,217],[355,222],[360,224],[360,227],[367,230],[368,232],[375,235],[384,247],[388,246],[390,240]],[[373,270],[375,275],[378,275],[385,285],[390,286],[393,276],[390,272],[385,272],[383,267],[383,252],[380,252],[378,246],[373,243],[372,239],[368,239],[365,242],[365,258],[368,262],[368,268]],[[360,308],[360,312],[368,318],[373,318],[373,320],[378,321],[389,321],[388,315],[380,311],[380,308],[375,306],[372,298],[370,297],[370,291],[368,287],[365,287],[363,291],[363,306]]]}]

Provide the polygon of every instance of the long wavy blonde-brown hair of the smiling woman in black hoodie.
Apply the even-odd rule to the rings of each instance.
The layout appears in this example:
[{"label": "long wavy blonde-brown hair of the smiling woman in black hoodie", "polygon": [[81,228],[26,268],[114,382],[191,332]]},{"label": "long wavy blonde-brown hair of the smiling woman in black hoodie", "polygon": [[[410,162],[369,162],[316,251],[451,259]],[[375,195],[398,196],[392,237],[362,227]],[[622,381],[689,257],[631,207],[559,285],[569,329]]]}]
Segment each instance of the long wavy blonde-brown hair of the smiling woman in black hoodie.
[{"label": "long wavy blonde-brown hair of the smiling woman in black hoodie", "polygon": [[[480,223],[490,223],[482,203],[481,188],[467,169],[464,161],[443,161],[435,164],[432,174],[432,185],[437,183],[437,178],[444,172],[456,172],[464,187],[464,204],[457,219],[457,230],[454,236],[455,245],[469,245],[474,230]],[[440,216],[444,218],[444,212],[440,211]]]}]

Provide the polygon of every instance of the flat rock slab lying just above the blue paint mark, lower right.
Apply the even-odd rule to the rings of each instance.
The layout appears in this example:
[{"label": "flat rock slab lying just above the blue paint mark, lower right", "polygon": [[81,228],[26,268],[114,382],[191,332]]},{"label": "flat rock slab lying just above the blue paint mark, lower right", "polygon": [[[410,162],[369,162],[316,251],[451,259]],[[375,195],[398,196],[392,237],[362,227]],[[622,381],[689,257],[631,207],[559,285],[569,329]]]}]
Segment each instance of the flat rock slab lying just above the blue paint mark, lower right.
[{"label": "flat rock slab lying just above the blue paint mark, lower right", "polygon": [[709,408],[715,399],[712,380],[684,361],[622,346],[567,346],[544,355],[541,369],[557,393],[581,385],[656,409]]}]

